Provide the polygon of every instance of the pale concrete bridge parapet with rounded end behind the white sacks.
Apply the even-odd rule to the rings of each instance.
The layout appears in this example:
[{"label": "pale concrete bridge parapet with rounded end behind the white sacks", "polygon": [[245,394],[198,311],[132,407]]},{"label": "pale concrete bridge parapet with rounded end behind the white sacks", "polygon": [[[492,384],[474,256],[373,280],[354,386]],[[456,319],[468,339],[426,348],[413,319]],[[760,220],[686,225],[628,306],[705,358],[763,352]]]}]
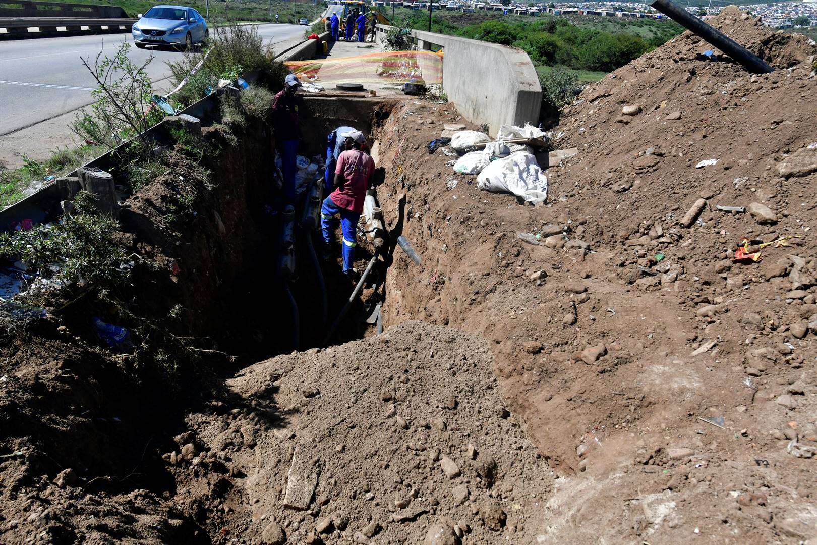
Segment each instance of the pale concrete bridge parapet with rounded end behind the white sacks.
[{"label": "pale concrete bridge parapet with rounded end behind the white sacks", "polygon": [[[377,42],[389,28],[377,25]],[[417,49],[442,47],[443,89],[471,123],[488,123],[493,136],[503,124],[538,123],[542,87],[525,51],[422,30],[411,33]]]}]

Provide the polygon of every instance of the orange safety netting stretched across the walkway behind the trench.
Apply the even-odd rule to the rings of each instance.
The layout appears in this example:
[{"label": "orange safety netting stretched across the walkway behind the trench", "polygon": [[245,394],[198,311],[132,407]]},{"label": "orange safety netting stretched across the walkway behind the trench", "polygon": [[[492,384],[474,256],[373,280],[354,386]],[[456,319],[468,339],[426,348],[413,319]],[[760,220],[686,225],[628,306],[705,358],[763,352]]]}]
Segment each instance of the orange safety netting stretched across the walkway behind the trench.
[{"label": "orange safety netting stretched across the walkway behind the trench", "polygon": [[310,83],[443,83],[441,51],[386,51],[283,64]]}]

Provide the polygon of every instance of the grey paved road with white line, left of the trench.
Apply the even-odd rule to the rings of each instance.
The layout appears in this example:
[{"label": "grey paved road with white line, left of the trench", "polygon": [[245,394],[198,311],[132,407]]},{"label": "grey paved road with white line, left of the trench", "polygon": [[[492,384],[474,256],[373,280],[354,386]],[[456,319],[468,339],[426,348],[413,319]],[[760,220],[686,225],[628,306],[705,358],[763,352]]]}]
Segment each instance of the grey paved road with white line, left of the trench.
[{"label": "grey paved road with white line, left of the trench", "polygon": [[[303,40],[306,27],[300,25],[258,25],[258,34],[276,51],[283,51]],[[28,127],[60,114],[91,104],[92,75],[80,56],[90,57],[103,51],[112,55],[123,39],[133,43],[130,34],[102,34],[65,38],[36,38],[0,43],[0,136],[11,132],[23,136]],[[130,57],[144,62],[154,60],[148,74],[158,89],[167,89],[170,70],[166,60],[179,58],[178,51],[131,48]]]}]

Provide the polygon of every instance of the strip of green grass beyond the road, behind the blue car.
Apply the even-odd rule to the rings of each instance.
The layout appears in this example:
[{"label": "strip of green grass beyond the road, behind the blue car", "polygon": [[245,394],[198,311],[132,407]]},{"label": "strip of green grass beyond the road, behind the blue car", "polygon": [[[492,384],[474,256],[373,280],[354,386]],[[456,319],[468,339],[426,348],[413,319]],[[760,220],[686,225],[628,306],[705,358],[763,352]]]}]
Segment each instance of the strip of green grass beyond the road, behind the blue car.
[{"label": "strip of green grass beyond the road, behind the blue car", "polygon": [[[145,13],[151,7],[161,2],[153,0],[65,0],[74,4],[102,4],[122,7],[128,16],[136,17],[140,13]],[[317,6],[311,2],[286,2],[284,0],[272,0],[272,11],[270,13],[269,0],[211,0],[210,16],[208,24],[216,25],[224,21],[275,21],[275,14],[279,15],[281,23],[297,23],[301,17],[314,20],[324,11],[325,6],[320,2]],[[196,11],[207,16],[204,0],[193,0],[193,2],[181,2],[181,5],[194,8]]]}]

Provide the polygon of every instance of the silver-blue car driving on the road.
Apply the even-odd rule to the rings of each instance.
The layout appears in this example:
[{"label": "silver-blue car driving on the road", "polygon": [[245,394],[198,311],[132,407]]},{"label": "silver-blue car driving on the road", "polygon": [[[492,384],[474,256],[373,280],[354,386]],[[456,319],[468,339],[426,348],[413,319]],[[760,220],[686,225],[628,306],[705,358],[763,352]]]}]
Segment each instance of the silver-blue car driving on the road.
[{"label": "silver-blue car driving on the road", "polygon": [[139,14],[132,27],[133,42],[145,46],[175,46],[191,49],[196,43],[207,43],[210,31],[192,7],[154,6]]}]

